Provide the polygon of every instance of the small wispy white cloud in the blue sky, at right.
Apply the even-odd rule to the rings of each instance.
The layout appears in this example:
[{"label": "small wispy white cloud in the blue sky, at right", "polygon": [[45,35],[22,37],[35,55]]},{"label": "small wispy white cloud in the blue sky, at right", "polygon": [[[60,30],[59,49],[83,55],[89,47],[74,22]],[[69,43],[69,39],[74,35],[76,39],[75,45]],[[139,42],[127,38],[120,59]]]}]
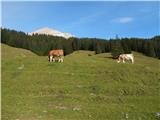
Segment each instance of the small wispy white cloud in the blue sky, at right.
[{"label": "small wispy white cloud in the blue sky, at right", "polygon": [[122,23],[122,24],[130,23],[132,21],[133,21],[132,17],[121,17],[121,18],[112,20],[112,22]]}]

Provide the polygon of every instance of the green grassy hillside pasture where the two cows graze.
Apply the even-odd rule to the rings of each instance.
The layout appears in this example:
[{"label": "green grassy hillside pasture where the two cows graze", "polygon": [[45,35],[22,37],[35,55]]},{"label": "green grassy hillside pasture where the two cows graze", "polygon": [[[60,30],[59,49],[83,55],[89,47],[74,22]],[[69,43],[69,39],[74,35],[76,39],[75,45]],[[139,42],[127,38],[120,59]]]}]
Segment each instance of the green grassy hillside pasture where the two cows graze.
[{"label": "green grassy hillside pasture where the two cows graze", "polygon": [[[64,63],[1,45],[3,120],[158,120],[160,61],[77,51]],[[92,54],[92,56],[88,56]]]}]

